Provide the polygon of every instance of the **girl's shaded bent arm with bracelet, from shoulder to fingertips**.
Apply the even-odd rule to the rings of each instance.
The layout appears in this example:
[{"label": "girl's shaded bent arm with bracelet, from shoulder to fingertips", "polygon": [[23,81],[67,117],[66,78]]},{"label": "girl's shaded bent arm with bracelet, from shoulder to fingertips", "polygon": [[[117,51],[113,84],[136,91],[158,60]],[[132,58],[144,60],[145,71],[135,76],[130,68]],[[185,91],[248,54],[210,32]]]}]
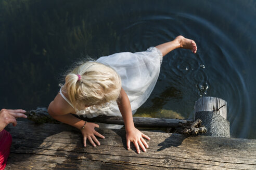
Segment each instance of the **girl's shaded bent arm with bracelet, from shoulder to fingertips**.
[{"label": "girl's shaded bent arm with bracelet, from shoulder to fingertips", "polygon": [[[71,109],[72,110],[72,109]],[[99,127],[98,124],[95,123],[89,123],[85,121],[76,118],[72,114],[69,114],[71,112],[70,107],[67,107],[67,105],[63,104],[62,101],[59,100],[58,95],[56,96],[55,100],[50,103],[48,107],[48,113],[50,116],[52,116],[54,119],[69,124],[71,126],[76,127],[77,129],[81,130],[83,134],[83,139],[84,139],[84,147],[86,147],[86,140],[88,139],[90,143],[95,147],[95,143],[97,145],[100,145],[99,141],[95,137],[101,137],[105,138],[103,135],[95,131],[95,127]],[[85,126],[84,126],[85,125]],[[84,126],[84,128],[83,128]],[[94,143],[95,141],[95,143]]]}]

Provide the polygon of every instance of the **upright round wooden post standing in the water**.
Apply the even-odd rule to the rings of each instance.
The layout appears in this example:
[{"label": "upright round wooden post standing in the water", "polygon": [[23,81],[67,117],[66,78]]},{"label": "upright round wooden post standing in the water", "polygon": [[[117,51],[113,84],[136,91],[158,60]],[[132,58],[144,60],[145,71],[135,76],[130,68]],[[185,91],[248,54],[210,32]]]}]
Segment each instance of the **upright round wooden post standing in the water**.
[{"label": "upright round wooden post standing in the water", "polygon": [[217,97],[202,97],[195,104],[195,118],[201,119],[208,136],[230,137],[227,102]]}]

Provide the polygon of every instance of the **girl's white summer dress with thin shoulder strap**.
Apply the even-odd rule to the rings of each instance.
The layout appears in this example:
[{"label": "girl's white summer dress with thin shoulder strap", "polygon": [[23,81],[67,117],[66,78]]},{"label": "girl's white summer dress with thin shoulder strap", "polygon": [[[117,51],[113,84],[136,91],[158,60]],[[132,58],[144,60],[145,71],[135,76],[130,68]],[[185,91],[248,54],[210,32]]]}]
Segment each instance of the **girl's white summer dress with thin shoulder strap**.
[{"label": "girl's white summer dress with thin shoulder strap", "polygon": [[[121,77],[122,88],[126,92],[131,102],[133,114],[146,102],[150,93],[156,85],[160,66],[162,63],[162,53],[156,47],[150,47],[142,52],[121,52],[109,56],[102,56],[97,62],[112,67]],[[61,96],[73,107],[68,99],[62,94]],[[121,116],[116,102],[110,104],[111,110],[100,113],[93,107],[87,107],[84,110],[76,111],[77,115],[87,118],[97,117],[99,115]],[[122,125],[100,124],[100,127],[120,129]]]}]

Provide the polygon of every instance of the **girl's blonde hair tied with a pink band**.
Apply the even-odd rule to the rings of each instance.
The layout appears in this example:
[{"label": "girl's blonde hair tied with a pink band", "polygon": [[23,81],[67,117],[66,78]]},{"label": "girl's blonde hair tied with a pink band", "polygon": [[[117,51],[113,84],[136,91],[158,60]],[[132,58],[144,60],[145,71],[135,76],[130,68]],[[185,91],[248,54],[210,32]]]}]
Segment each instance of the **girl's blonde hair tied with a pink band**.
[{"label": "girl's blonde hair tied with a pink band", "polygon": [[[79,76],[81,76],[79,80]],[[69,100],[75,110],[93,106],[100,110],[108,102],[117,100],[121,79],[117,72],[104,64],[88,61],[80,63],[65,78]]]}]

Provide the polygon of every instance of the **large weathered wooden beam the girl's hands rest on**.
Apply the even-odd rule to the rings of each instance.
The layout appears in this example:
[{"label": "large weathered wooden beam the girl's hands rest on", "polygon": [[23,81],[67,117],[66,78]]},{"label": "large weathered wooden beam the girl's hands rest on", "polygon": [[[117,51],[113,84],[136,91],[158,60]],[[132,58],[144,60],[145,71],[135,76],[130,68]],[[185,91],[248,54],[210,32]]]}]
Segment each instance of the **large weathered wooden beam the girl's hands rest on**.
[{"label": "large weathered wooden beam the girl's hands rest on", "polygon": [[126,150],[124,130],[97,129],[106,138],[86,148],[80,131],[64,124],[18,122],[7,169],[255,169],[256,140],[143,132],[147,152]]}]

